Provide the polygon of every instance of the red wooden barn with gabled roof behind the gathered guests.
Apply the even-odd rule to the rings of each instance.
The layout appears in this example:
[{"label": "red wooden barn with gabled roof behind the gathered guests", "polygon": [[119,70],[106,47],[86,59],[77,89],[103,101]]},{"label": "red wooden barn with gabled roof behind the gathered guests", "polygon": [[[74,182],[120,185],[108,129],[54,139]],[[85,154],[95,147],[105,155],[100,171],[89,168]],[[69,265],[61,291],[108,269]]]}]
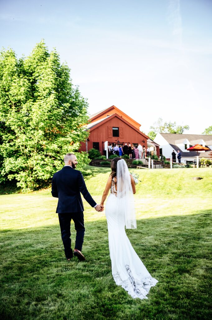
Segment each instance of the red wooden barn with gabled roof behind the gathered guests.
[{"label": "red wooden barn with gabled roof behind the gathered guests", "polygon": [[80,151],[95,148],[103,155],[105,141],[113,146],[124,143],[138,146],[140,143],[142,147],[147,148],[149,137],[139,130],[140,126],[137,121],[115,106],[99,111],[89,119],[86,130],[90,131],[90,135],[86,142],[82,142]]}]

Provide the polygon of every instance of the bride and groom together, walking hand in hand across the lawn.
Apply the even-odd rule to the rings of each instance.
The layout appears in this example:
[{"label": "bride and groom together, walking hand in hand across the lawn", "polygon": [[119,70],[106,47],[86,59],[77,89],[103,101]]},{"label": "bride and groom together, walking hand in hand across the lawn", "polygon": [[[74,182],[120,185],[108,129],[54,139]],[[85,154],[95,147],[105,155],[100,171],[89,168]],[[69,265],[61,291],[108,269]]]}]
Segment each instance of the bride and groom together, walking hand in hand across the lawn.
[{"label": "bride and groom together, walking hand in hand across the lawn", "polygon": [[[80,261],[85,260],[82,254],[84,241],[84,207],[80,193],[96,211],[104,210],[104,202],[110,190],[106,203],[106,219],[108,227],[108,241],[112,275],[117,285],[121,285],[132,298],[147,299],[152,286],[158,282],[147,271],[133,249],[125,232],[136,228],[135,181],[129,173],[124,159],[116,157],[111,161],[111,174],[108,177],[100,204],[88,192],[83,175],[74,170],[77,166],[77,157],[68,153],[64,157],[64,167],[56,172],[52,179],[52,196],[58,198],[56,212],[58,213],[61,237],[65,256],[70,260],[73,255]],[[76,242],[74,252],[71,249],[70,223],[74,221]]]}]

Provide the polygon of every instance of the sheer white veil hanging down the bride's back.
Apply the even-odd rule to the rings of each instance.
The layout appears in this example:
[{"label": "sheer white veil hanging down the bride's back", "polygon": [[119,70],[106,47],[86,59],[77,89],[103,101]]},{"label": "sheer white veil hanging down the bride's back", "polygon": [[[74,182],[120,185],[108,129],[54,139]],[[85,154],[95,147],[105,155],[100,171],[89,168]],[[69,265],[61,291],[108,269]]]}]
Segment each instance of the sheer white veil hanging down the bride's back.
[{"label": "sheer white veil hanging down the bride's back", "polygon": [[116,179],[118,210],[124,213],[126,229],[136,229],[133,189],[128,166],[124,159],[117,162]]}]

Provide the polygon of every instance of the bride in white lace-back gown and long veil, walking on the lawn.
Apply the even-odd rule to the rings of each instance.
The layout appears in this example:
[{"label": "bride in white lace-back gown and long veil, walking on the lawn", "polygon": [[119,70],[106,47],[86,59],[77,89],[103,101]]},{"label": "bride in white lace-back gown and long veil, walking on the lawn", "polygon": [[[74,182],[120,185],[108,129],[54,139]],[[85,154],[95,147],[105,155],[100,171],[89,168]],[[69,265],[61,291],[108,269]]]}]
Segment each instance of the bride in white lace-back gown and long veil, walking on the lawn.
[{"label": "bride in white lace-back gown and long veil, walking on the lawn", "polygon": [[125,226],[127,229],[136,228],[133,200],[135,181],[124,159],[114,158],[111,171],[101,205],[104,205],[110,190],[106,202],[106,219],[113,279],[132,298],[148,299],[146,295],[158,281],[147,271],[125,232]]}]

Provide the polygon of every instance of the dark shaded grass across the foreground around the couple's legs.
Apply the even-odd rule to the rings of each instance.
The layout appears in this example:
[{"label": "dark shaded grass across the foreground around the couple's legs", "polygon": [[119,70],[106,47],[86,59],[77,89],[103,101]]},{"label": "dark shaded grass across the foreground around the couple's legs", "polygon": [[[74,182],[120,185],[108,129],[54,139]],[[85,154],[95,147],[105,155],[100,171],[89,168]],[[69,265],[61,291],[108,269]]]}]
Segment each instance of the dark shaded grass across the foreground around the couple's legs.
[{"label": "dark shaded grass across the foreground around the couple's legs", "polygon": [[59,225],[4,230],[2,319],[210,319],[211,212],[196,213],[142,219],[127,230],[159,280],[148,300],[115,285],[105,220],[85,222],[84,262],[65,260]]}]

